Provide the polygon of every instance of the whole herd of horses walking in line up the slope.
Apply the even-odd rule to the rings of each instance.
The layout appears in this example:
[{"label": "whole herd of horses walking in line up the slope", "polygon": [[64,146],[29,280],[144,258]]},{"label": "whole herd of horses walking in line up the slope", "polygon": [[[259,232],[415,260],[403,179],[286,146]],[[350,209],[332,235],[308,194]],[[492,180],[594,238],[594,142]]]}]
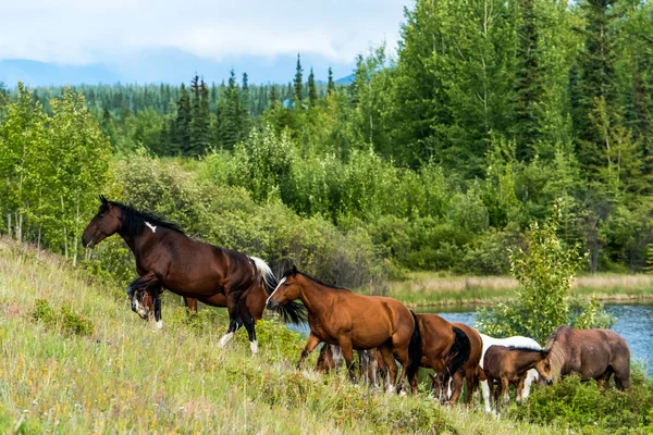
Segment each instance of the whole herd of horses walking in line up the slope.
[{"label": "whole herd of horses walking in line up the slope", "polygon": [[226,307],[230,324],[219,346],[225,346],[245,326],[256,353],[255,324],[268,308],[286,322],[308,320],[310,334],[298,366],[323,343],[318,369],[333,370],[344,360],[356,382],[356,350],[359,374],[368,382],[383,378],[389,390],[399,390],[407,380],[416,394],[419,368],[432,369],[433,394],[443,402],[455,402],[466,383],[469,403],[480,385],[486,411],[491,410],[491,395],[497,410],[502,396],[507,402],[509,385],[515,385],[519,400],[528,397],[532,382],[552,383],[568,374],[594,378],[605,386],[614,374],[617,388],[630,387],[628,345],[609,330],[563,325],[544,348],[527,337],[496,339],[435,314],[416,314],[393,298],[358,295],[324,284],[295,266],[278,281],[258,258],[195,240],[174,224],[103,196],[100,202],[84,229],[83,246],[93,247],[115,233],[122,236],[134,253],[139,275],[127,287],[132,310],[146,320],[153,314],[159,327],[161,294],[168,289],[184,297],[192,310],[197,309],[198,300]]}]

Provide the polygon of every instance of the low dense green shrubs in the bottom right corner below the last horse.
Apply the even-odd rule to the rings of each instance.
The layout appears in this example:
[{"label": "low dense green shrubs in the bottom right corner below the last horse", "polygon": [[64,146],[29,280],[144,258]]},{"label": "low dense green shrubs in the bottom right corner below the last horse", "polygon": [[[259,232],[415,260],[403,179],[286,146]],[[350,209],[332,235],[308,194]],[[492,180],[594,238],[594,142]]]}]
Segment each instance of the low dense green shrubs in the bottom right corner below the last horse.
[{"label": "low dense green shrubs in the bottom right corner below the last horse", "polygon": [[[630,433],[653,426],[653,383],[643,371],[632,373],[632,388],[621,393],[602,389],[594,381],[567,376],[546,387],[535,388],[528,400],[509,414],[539,424],[581,430],[583,433]],[[591,428],[590,428],[591,427]],[[639,433],[639,432],[638,432]]]}]

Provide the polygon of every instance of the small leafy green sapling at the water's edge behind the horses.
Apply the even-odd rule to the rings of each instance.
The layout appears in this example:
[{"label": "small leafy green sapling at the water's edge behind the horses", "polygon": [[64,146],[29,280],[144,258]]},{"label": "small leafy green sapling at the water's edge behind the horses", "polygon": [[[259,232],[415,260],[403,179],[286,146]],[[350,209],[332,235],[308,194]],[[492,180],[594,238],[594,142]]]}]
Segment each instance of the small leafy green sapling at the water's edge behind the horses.
[{"label": "small leafy green sapling at the water's edge behind the horses", "polygon": [[544,343],[563,324],[608,327],[611,318],[593,299],[569,300],[575,273],[587,258],[580,246],[566,246],[557,236],[560,206],[542,227],[532,224],[526,247],[510,250],[510,272],[519,282],[517,301],[479,310],[477,323],[493,336],[523,335]]}]

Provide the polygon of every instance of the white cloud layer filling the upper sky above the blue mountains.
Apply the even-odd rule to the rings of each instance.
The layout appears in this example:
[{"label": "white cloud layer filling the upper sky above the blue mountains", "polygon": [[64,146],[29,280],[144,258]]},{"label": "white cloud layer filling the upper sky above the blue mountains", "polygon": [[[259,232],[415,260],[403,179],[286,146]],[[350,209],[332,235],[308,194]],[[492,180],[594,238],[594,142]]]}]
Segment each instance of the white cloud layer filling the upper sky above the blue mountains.
[{"label": "white cloud layer filling the upper sky above the blue mountains", "polygon": [[[9,3],[9,2],[3,2]],[[297,52],[350,62],[394,46],[407,0],[25,0],[1,5],[0,59],[120,63],[175,49],[220,61]]]}]

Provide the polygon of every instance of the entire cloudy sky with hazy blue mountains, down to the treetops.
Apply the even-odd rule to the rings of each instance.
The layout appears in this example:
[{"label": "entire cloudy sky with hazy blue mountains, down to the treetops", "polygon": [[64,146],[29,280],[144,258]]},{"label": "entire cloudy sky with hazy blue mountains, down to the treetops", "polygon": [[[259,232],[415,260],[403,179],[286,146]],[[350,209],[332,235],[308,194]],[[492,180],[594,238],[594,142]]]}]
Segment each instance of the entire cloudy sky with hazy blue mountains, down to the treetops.
[{"label": "entire cloudy sky with hazy blue mountains, down to the treetops", "polygon": [[[316,78],[357,53],[396,47],[412,0],[0,0],[0,80],[288,82],[297,53]],[[20,62],[17,62],[20,60]],[[35,62],[46,63],[42,65]],[[35,72],[36,71],[36,72]],[[38,76],[38,77],[37,77]]]}]

